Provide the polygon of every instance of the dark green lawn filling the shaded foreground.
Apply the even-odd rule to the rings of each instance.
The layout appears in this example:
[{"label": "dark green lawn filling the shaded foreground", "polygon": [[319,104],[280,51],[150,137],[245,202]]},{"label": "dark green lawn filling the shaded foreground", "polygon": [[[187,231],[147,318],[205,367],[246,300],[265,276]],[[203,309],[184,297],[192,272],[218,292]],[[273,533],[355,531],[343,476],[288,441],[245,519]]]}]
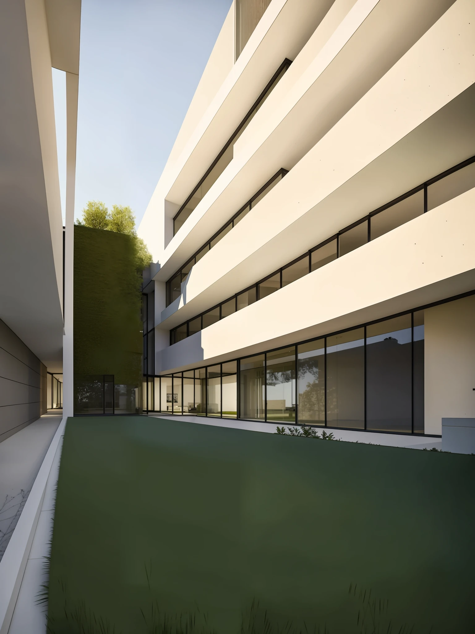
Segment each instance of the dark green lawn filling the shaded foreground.
[{"label": "dark green lawn filling the shaded foreground", "polygon": [[474,482],[474,456],[70,418],[49,631],[472,632]]}]

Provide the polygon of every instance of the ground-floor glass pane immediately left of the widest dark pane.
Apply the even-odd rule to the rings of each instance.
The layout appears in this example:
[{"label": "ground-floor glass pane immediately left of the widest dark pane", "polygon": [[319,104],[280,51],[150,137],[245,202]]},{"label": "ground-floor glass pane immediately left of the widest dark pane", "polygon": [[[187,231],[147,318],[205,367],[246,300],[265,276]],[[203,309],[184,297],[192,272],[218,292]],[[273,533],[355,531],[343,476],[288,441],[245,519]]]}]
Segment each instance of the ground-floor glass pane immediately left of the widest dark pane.
[{"label": "ground-floor glass pane immediately left of the widest dark pane", "polygon": [[327,425],[364,429],[364,328],[327,337]]}]

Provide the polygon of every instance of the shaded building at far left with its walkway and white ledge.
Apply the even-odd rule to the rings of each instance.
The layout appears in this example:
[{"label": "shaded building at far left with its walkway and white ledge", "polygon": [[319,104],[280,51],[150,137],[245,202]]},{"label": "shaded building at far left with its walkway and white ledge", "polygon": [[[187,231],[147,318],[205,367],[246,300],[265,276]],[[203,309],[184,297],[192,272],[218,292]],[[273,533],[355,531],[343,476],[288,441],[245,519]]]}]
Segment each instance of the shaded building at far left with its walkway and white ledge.
[{"label": "shaded building at far left with its walkway and white ledge", "polygon": [[[42,607],[35,601],[44,583],[44,555],[51,539],[57,478],[57,469],[51,466],[55,456],[56,467],[60,458],[63,401],[65,413],[72,414],[80,8],[80,0],[0,4],[2,634],[41,631],[35,619],[44,622]],[[52,68],[63,72],[66,86],[65,226]]]}]

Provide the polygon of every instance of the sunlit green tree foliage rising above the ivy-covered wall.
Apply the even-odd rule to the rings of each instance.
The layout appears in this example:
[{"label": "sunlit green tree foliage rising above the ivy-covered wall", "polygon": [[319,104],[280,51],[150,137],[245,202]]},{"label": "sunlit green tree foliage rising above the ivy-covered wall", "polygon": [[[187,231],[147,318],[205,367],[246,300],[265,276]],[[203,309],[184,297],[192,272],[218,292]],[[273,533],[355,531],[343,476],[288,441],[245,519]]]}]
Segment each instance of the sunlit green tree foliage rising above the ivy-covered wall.
[{"label": "sunlit green tree foliage rising above the ivy-covered wall", "polygon": [[146,243],[137,236],[136,217],[130,207],[112,205],[112,209],[109,210],[100,200],[89,200],[82,210],[82,221],[78,220],[76,224],[131,236],[136,247],[137,271],[142,271],[151,263],[152,256]]}]

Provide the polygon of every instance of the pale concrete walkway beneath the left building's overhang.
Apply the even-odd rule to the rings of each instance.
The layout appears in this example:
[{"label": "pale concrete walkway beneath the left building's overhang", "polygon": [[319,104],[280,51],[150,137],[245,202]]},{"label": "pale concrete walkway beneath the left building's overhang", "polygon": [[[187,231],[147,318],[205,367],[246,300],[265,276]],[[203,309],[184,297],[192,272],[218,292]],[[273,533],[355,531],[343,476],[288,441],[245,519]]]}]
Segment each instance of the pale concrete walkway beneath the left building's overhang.
[{"label": "pale concrete walkway beneath the left building's overhang", "polygon": [[0,560],[62,415],[63,410],[48,410],[0,443]]}]

